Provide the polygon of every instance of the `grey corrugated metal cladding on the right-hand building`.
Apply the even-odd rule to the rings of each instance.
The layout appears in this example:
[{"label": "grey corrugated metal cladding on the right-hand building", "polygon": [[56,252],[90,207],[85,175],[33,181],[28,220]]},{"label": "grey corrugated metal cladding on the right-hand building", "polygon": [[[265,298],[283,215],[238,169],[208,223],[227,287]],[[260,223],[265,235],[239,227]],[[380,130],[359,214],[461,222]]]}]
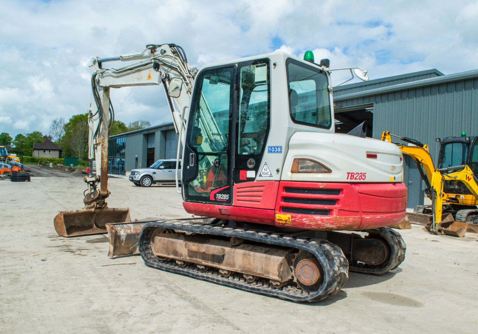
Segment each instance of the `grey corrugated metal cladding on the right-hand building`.
[{"label": "grey corrugated metal cladding on the right-hand building", "polygon": [[[374,80],[369,81],[373,83]],[[335,96],[336,110],[373,104],[373,134],[382,131],[419,140],[437,161],[435,138],[478,134],[478,70]]]}]

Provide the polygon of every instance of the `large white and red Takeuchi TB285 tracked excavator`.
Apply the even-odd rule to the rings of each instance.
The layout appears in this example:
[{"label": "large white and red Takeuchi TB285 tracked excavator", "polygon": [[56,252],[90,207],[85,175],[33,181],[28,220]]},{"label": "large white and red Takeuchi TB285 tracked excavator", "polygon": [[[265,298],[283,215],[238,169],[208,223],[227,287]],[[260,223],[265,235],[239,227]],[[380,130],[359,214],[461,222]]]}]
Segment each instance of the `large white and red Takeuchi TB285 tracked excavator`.
[{"label": "large white and red Takeuchi TB285 tracked excavator", "polygon": [[[55,218],[62,235],[72,226],[73,234],[101,233],[106,218],[118,219],[108,217],[114,210],[118,222],[129,219],[105,202],[109,89],[163,85],[181,143],[176,187],[185,211],[202,218],[143,223],[138,248],[147,266],[310,302],[339,291],[349,270],[380,275],[404,260],[402,237],[385,227],[406,214],[402,153],[335,133],[328,59],[273,52],[198,71],[181,47],[164,44],[93,58],[90,68],[89,155],[100,168],[85,178],[86,208]],[[368,80],[360,67],[345,70]]]}]

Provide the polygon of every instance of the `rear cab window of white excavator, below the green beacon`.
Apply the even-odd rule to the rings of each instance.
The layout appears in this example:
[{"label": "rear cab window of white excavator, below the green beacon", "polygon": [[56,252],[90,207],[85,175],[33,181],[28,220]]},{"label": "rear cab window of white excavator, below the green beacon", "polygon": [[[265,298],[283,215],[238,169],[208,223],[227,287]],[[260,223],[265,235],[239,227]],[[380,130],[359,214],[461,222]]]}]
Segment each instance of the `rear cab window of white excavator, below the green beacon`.
[{"label": "rear cab window of white excavator, below the green beacon", "polygon": [[286,67],[293,122],[329,129],[332,122],[326,73],[293,59],[287,60]]}]

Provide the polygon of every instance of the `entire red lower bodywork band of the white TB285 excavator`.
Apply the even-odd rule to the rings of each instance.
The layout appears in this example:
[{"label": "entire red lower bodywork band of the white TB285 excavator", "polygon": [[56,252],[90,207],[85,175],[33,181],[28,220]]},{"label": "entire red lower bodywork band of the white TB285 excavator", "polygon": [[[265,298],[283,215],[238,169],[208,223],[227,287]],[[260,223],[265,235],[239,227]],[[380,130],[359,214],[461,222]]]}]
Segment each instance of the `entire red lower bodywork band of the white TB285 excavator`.
[{"label": "entire red lower bodywork band of the white TB285 excavator", "polygon": [[[244,199],[251,196],[249,190],[241,198],[240,189],[253,189],[250,187],[254,185],[264,187],[261,200],[243,207],[248,202]],[[407,188],[403,183],[262,181],[236,187],[234,206],[192,202],[183,202],[183,206],[186,212],[206,217],[324,231],[389,226],[400,223],[406,215]],[[275,207],[267,210],[275,199]]]}]

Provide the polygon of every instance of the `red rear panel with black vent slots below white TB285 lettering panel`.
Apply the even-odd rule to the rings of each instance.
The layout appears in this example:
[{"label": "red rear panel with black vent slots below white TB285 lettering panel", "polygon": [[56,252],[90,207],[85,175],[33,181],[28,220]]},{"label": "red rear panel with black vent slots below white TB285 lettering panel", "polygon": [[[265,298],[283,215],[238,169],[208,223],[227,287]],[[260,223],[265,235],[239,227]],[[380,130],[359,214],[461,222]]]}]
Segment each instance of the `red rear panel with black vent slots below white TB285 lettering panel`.
[{"label": "red rear panel with black vent slots below white TB285 lettering panel", "polygon": [[[284,216],[276,216],[276,224],[313,230],[365,230],[402,222],[406,206],[403,183],[281,181],[275,210]],[[301,213],[307,210],[323,212]]]}]

